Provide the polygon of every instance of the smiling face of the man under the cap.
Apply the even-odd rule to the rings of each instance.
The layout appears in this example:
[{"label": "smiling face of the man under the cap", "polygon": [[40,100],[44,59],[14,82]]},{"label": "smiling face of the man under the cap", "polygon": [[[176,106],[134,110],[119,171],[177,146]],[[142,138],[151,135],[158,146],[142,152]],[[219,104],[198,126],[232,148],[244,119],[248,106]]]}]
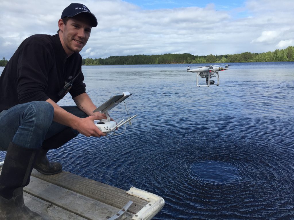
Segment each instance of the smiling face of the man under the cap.
[{"label": "smiling face of the man under the cap", "polygon": [[69,18],[66,24],[59,19],[59,36],[61,44],[68,56],[74,52],[80,52],[86,45],[90,33],[91,25],[86,16],[77,15]]}]

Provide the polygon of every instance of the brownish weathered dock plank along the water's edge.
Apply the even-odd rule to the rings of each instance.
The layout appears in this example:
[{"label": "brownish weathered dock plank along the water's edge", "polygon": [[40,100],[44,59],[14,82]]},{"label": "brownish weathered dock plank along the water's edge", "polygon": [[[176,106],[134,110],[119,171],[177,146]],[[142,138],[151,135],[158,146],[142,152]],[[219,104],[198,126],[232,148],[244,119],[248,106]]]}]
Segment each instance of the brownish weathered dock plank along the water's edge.
[{"label": "brownish weathered dock plank along the water's edge", "polygon": [[[32,175],[41,180],[47,181],[54,185],[69,189],[78,194],[95,199],[99,202],[111,205],[118,209],[124,207],[128,201],[133,201],[133,204],[128,209],[132,214],[140,211],[148,202],[138,197],[131,196],[126,191],[112,187],[101,182],[96,182],[78,175],[62,171],[59,174],[46,176],[36,170],[33,170]],[[130,186],[131,187],[131,186]]]}]

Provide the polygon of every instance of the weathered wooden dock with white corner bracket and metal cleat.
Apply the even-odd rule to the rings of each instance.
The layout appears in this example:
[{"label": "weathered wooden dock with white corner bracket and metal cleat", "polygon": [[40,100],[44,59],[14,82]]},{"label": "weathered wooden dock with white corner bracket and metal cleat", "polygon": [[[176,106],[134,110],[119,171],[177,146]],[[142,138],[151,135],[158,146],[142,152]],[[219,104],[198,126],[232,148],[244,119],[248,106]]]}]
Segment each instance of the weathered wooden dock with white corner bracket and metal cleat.
[{"label": "weathered wooden dock with white corner bracket and metal cleat", "polygon": [[47,220],[149,220],[164,206],[162,197],[135,187],[124,191],[70,172],[46,176],[35,169],[24,202]]}]

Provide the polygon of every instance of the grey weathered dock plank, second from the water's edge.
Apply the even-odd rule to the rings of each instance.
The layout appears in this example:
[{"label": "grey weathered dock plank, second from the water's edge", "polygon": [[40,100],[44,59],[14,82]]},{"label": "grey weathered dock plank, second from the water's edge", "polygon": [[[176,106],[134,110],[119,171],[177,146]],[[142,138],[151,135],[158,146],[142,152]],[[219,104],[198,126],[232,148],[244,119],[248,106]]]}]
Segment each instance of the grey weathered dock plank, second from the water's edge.
[{"label": "grey weathered dock plank, second from the water's edge", "polygon": [[[74,214],[82,219],[107,220],[120,211],[120,209],[36,177],[31,177],[30,184],[24,187],[24,192],[43,200],[43,203],[46,203],[45,205],[49,208],[54,205],[71,213],[68,216],[64,216],[64,219],[71,219],[70,215]],[[44,210],[43,208],[41,214],[45,212],[47,213],[48,210]],[[126,220],[131,220],[133,214],[126,213],[126,216]],[[51,216],[48,217],[51,219]]]}]

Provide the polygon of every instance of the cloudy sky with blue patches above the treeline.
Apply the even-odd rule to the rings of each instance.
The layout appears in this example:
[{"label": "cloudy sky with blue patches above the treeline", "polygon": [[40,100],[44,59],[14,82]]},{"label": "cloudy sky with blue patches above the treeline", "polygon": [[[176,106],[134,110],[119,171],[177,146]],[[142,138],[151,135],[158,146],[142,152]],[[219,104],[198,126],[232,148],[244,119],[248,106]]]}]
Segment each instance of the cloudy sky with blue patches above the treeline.
[{"label": "cloudy sky with blue patches above the treeline", "polygon": [[[263,53],[294,46],[293,0],[83,0],[95,14],[85,59]],[[56,34],[72,1],[1,0],[0,59],[33,34]]]}]

